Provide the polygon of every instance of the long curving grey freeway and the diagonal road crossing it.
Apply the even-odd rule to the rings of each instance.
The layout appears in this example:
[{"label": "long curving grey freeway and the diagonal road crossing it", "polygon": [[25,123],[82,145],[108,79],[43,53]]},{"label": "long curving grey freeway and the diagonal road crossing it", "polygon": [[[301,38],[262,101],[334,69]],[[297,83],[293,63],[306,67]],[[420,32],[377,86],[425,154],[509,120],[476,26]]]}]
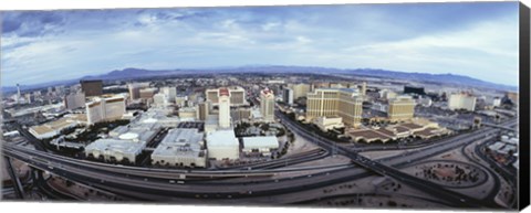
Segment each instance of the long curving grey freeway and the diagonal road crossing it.
[{"label": "long curving grey freeway and the diagonal road crossing it", "polygon": [[[499,184],[491,190],[491,195],[479,200],[399,170],[412,164],[412,162],[418,162],[419,160],[481,140],[497,134],[499,129],[483,127],[476,131],[441,139],[436,143],[408,151],[405,155],[372,160],[361,155],[362,149],[337,146],[335,142],[304,129],[280,111],[275,111],[275,116],[299,137],[303,137],[321,147],[321,150],[315,151],[314,155],[309,155],[310,158],[295,157],[296,160],[293,159],[294,161],[320,159],[330,156],[331,152],[336,152],[351,159],[352,163],[322,168],[278,168],[279,164],[282,164],[282,161],[285,161],[278,159],[272,160],[270,164],[266,163],[257,167],[225,170],[179,170],[115,166],[80,160],[46,152],[38,146],[35,146],[38,150],[34,150],[4,143],[2,152],[6,157],[21,160],[37,170],[46,171],[73,182],[115,193],[128,200],[195,202],[199,199],[209,199],[209,201],[215,203],[238,201],[267,203],[270,196],[273,195],[304,192],[315,188],[377,174],[388,177],[410,188],[431,194],[448,206],[501,207],[493,202],[492,196],[492,194],[496,195]],[[514,125],[517,125],[516,120],[503,124],[506,127],[513,127]],[[298,171],[314,172],[289,178],[277,177],[279,173]],[[227,181],[228,179],[235,179],[236,181]],[[499,180],[494,181],[499,182]],[[301,193],[301,196],[304,195],[306,194]],[[316,199],[310,194],[308,196],[308,200]],[[291,203],[289,200],[284,202]]]}]

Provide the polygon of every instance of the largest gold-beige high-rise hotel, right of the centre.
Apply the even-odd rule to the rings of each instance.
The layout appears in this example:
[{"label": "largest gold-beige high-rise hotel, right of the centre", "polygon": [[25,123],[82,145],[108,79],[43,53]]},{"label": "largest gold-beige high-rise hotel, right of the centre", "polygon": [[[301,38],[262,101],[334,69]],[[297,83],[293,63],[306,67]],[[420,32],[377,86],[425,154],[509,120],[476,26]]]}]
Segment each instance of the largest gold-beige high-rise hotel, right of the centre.
[{"label": "largest gold-beige high-rise hotel, right of the centre", "polygon": [[340,116],[346,125],[356,126],[362,119],[362,104],[356,88],[316,88],[308,94],[306,120]]}]

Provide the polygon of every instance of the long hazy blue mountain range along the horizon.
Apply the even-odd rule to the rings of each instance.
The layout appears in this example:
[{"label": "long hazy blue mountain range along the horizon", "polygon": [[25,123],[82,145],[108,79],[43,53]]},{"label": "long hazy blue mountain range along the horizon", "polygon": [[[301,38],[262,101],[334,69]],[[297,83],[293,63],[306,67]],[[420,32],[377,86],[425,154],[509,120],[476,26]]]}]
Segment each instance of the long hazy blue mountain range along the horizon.
[{"label": "long hazy blue mountain range along the horizon", "polygon": [[[80,79],[135,79],[144,77],[156,76],[174,76],[183,74],[198,74],[198,73],[313,73],[313,74],[346,74],[346,75],[361,75],[372,77],[384,77],[395,79],[407,79],[415,82],[427,83],[441,83],[451,85],[465,85],[475,87],[487,87],[502,90],[518,90],[517,86],[509,86],[502,84],[496,84],[485,82],[481,79],[472,78],[464,75],[455,74],[429,74],[429,73],[407,73],[398,71],[374,70],[374,68],[355,68],[355,70],[341,70],[316,66],[283,66],[283,65],[247,65],[237,67],[214,67],[214,68],[176,68],[176,70],[144,70],[144,68],[124,68],[115,70],[103,75],[84,76],[79,79],[61,81],[53,83],[45,83],[31,86],[22,86],[21,89],[31,89],[45,86],[52,86],[56,84],[70,84]],[[2,87],[3,93],[15,92],[17,87]]]}]

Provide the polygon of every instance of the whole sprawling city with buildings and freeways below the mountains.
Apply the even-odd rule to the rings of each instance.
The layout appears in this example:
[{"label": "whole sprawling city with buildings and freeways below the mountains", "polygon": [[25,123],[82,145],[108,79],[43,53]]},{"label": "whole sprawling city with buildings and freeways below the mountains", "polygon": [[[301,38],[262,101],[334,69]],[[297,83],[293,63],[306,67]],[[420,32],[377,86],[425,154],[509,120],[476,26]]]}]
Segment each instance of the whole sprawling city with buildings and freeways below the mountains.
[{"label": "whole sprawling city with buildings and freeways below the mountains", "polygon": [[518,200],[514,92],[219,73],[19,88],[2,106],[4,199],[493,209]]}]

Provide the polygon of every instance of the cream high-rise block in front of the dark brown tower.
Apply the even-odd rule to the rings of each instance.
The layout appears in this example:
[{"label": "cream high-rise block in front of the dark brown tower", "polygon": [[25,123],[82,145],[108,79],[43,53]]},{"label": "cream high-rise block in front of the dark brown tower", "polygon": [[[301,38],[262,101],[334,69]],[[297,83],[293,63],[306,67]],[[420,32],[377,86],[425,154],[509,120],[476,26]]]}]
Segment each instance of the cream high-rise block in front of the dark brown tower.
[{"label": "cream high-rise block in front of the dark brown tower", "polygon": [[85,104],[86,119],[90,125],[122,118],[125,114],[125,97],[114,96],[94,98]]}]

